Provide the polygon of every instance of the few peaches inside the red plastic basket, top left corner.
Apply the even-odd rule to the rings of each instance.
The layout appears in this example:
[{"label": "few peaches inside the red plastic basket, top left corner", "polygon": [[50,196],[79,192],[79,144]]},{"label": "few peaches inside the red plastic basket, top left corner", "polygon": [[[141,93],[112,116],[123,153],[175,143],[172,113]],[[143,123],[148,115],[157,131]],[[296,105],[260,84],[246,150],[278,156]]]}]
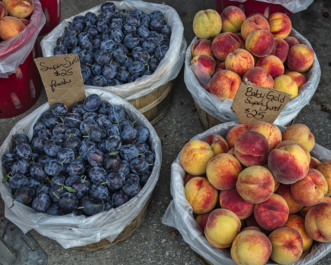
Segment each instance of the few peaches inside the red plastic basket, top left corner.
[{"label": "few peaches inside the red plastic basket, top left corner", "polygon": [[25,29],[34,8],[33,0],[0,1],[0,38],[7,40]]}]

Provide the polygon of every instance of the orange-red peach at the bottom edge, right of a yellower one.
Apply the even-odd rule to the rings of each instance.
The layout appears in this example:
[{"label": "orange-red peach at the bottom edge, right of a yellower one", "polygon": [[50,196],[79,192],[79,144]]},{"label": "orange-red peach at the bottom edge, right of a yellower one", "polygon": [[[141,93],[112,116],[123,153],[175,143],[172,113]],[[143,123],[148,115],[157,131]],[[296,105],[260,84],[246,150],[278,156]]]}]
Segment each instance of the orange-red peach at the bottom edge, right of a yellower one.
[{"label": "orange-red peach at the bottom edge, right of a yellower one", "polygon": [[300,233],[294,228],[278,228],[268,238],[272,247],[270,258],[274,262],[289,265],[300,259],[304,246]]}]

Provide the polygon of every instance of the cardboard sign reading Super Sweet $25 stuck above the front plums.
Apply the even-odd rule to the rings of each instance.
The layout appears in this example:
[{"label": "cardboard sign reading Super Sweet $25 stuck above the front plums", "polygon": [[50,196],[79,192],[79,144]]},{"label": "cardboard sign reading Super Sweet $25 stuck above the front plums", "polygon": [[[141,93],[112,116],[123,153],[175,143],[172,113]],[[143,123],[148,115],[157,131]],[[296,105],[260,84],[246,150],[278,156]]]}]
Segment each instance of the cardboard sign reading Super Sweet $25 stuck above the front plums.
[{"label": "cardboard sign reading Super Sweet $25 stuck above the front plums", "polygon": [[85,99],[78,54],[40,57],[34,61],[44,84],[50,108],[56,102],[63,102],[68,111],[71,111],[74,103]]}]

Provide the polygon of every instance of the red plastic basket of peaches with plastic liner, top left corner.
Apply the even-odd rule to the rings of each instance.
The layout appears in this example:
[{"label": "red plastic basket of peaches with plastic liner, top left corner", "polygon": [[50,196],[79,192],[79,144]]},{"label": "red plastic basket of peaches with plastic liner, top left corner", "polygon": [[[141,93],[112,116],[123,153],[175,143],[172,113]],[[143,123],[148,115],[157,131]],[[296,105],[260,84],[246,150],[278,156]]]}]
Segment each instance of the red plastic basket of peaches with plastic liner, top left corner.
[{"label": "red plastic basket of peaches with plastic liner, top left corner", "polygon": [[45,24],[38,0],[0,1],[0,118],[28,110],[40,95],[34,63],[37,37]]}]

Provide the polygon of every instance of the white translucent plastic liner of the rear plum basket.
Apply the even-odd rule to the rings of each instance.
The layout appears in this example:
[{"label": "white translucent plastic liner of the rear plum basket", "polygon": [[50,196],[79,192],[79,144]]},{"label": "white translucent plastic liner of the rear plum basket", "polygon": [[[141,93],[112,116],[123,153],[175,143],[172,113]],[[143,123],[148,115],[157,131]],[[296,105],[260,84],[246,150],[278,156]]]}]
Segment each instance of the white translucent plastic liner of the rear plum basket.
[{"label": "white translucent plastic liner of the rear plum basket", "polygon": [[[162,11],[164,14],[165,23],[171,27],[171,37],[169,50],[166,56],[161,60],[157,70],[150,76],[143,76],[132,83],[126,83],[115,86],[91,86],[85,85],[86,88],[97,88],[106,91],[110,91],[126,100],[133,100],[143,97],[158,87],[166,84],[168,81],[175,79],[183,65],[185,59],[185,51],[187,48],[186,40],[183,36],[184,26],[177,13],[177,11],[168,6],[155,3],[147,3],[144,1],[124,0],[120,2],[112,1],[116,4],[117,9],[127,9],[132,11],[139,9],[145,13],[151,13],[155,10]],[[98,5],[90,10],[86,10],[77,15],[85,15],[87,12],[94,12],[97,16],[101,14],[101,5]],[[76,15],[75,15],[76,16]],[[58,37],[64,34],[65,26],[68,26],[72,19],[72,16],[62,21],[56,26],[48,35],[46,35],[40,42],[42,54],[44,57],[53,56],[53,50],[56,46],[56,40]]]}]

